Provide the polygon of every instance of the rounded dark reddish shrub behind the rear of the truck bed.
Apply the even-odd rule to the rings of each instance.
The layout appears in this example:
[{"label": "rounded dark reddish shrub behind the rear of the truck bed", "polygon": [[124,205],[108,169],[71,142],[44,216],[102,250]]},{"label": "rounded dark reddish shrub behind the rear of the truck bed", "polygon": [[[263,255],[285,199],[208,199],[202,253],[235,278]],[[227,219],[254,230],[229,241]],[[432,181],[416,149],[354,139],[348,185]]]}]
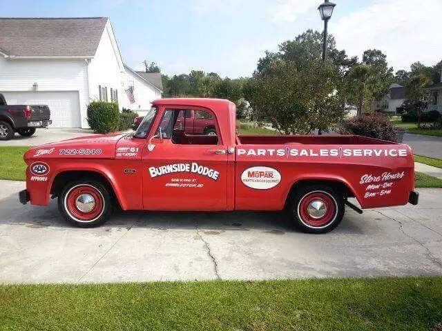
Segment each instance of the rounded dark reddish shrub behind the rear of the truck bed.
[{"label": "rounded dark reddish shrub behind the rear of the truck bed", "polygon": [[392,122],[382,114],[366,114],[362,117],[349,119],[341,124],[340,133],[397,141]]}]

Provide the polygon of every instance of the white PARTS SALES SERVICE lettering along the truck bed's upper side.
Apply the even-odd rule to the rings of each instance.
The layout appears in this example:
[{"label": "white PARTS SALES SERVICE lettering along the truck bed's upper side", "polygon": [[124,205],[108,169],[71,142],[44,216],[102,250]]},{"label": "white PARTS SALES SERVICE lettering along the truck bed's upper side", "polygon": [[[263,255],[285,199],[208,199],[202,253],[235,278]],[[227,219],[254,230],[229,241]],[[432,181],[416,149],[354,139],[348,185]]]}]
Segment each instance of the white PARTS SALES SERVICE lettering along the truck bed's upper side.
[{"label": "white PARTS SALES SERVICE lettering along the truck bed's upper side", "polygon": [[406,157],[406,148],[238,148],[247,157]]}]

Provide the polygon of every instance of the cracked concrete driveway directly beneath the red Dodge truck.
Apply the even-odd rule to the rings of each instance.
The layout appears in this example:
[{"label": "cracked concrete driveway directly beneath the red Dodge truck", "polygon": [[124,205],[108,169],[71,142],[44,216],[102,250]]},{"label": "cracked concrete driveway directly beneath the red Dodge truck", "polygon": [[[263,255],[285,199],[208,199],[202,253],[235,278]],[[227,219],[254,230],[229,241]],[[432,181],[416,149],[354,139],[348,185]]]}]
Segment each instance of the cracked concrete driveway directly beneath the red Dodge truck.
[{"label": "cracked concrete driveway directly beneath the red Dodge truck", "polygon": [[56,201],[20,205],[0,181],[0,283],[295,279],[442,274],[440,189],[421,203],[347,209],[329,234],[303,234],[280,213],[122,212],[71,228]]}]

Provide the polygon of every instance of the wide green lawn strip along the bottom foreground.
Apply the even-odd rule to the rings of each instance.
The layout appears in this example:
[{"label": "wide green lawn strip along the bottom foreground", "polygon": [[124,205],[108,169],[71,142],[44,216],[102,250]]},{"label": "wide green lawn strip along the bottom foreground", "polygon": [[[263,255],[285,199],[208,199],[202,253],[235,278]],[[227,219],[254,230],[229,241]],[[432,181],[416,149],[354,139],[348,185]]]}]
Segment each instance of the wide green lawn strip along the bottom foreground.
[{"label": "wide green lawn strip along the bottom foreground", "polygon": [[0,286],[0,330],[426,331],[441,322],[441,277]]}]

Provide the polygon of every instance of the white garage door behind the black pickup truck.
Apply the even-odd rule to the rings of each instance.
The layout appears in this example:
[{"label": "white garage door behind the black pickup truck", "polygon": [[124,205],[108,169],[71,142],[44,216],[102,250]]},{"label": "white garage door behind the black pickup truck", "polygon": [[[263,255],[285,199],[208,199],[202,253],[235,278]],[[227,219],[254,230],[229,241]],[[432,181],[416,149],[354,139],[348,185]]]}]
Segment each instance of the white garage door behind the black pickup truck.
[{"label": "white garage door behind the black pickup truck", "polygon": [[2,93],[10,105],[48,105],[51,128],[81,128],[78,91]]}]

